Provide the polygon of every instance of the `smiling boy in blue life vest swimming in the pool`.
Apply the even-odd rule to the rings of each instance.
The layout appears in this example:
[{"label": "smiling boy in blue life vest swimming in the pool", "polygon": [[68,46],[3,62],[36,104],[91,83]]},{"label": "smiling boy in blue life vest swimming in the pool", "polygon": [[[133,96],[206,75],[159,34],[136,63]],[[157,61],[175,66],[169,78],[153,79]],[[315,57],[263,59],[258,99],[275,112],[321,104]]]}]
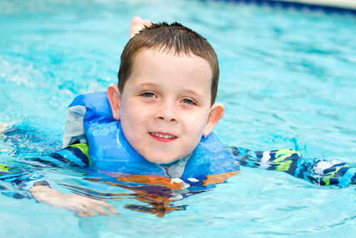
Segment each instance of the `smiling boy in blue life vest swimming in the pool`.
[{"label": "smiling boy in blue life vest swimming in the pool", "polygon": [[[132,28],[142,23],[135,18]],[[153,24],[133,37],[122,53],[118,76],[118,86],[110,84],[105,95],[81,96],[70,105],[63,147],[70,146],[63,151],[78,155],[78,164],[93,162],[103,174],[124,182],[121,187],[144,184],[129,189],[147,195],[152,187],[146,185],[160,185],[174,195],[192,195],[239,174],[239,162],[320,185],[345,187],[355,181],[355,169],[344,162],[302,160],[294,150],[251,152],[221,145],[211,133],[224,115],[224,105],[215,103],[216,54],[204,38],[180,24]],[[109,110],[105,103],[110,103]],[[89,143],[90,160],[83,143]],[[58,152],[52,157],[67,160],[70,155]],[[38,182],[30,191],[38,202],[73,209],[80,216],[93,216],[95,211],[109,214],[100,206],[117,214],[104,201],[65,195],[46,182]],[[160,197],[161,216],[172,194],[164,194],[166,200]],[[157,201],[153,204],[157,207]]]}]

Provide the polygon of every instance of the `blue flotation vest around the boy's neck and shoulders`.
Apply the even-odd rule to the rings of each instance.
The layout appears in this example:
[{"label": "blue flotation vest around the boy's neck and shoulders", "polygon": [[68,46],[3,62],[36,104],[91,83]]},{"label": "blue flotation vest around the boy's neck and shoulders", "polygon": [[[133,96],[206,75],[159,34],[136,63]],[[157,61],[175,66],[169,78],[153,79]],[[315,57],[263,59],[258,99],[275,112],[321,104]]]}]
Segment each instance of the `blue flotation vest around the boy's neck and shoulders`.
[{"label": "blue flotation vest around the boy's neck and shoulders", "polygon": [[[63,148],[73,140],[89,144],[90,159],[98,170],[169,177],[162,167],[145,160],[127,142],[120,121],[112,117],[106,92],[79,95],[69,105]],[[212,176],[216,180],[214,183],[217,183],[237,175],[239,170],[239,162],[230,148],[211,133],[207,137],[202,136],[199,145],[187,160],[181,177]]]}]

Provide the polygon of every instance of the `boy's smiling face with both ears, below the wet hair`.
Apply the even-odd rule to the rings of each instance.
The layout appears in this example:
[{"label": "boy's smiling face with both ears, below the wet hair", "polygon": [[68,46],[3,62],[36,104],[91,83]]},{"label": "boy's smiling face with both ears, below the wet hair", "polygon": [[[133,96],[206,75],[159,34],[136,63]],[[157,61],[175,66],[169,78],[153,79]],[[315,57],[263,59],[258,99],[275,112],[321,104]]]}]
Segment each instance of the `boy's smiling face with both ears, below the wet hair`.
[{"label": "boy's smiling face with both ears, below the wet hair", "polygon": [[[193,54],[139,53],[122,95],[117,86],[108,88],[112,113],[130,145],[150,162],[173,162],[192,153],[224,114],[220,103],[211,108],[211,75],[209,63]],[[215,121],[209,113],[216,105],[221,115]]]}]

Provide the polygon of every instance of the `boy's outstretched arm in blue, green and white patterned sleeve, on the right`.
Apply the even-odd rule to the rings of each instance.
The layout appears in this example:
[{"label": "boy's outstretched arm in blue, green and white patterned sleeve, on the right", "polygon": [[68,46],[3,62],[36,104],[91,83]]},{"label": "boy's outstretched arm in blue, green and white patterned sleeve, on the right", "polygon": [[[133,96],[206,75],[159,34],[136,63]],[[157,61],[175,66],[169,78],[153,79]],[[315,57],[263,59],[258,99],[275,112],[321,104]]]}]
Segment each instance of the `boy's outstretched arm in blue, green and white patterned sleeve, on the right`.
[{"label": "boy's outstretched arm in blue, green and white patterned sleeve, on the right", "polygon": [[303,158],[296,150],[256,151],[231,148],[240,165],[265,170],[283,171],[315,185],[338,185],[347,187],[356,184],[356,168],[346,162]]}]

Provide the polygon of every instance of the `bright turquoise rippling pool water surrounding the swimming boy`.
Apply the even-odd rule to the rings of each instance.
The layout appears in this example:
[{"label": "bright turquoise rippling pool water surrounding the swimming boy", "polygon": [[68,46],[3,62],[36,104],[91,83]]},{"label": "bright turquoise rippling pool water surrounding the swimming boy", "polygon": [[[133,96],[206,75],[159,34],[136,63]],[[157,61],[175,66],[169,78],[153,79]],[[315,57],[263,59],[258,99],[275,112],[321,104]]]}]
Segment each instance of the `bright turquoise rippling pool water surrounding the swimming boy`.
[{"label": "bright turquoise rippling pool water surrounding the swimming boy", "polygon": [[[75,95],[117,81],[135,15],[179,21],[214,46],[221,71],[217,101],[226,106],[215,132],[224,143],[291,148],[304,157],[356,164],[355,16],[158,0],[0,1],[0,131],[14,126],[26,132],[0,133],[2,163],[61,147],[66,107]],[[60,184],[80,180],[61,169],[43,174],[61,192],[70,191]],[[0,195],[1,237],[353,237],[356,232],[355,187],[317,187],[283,172],[246,167],[214,190],[174,202],[187,209],[163,218],[124,209],[145,205],[132,196],[108,202],[121,216],[75,217]]]}]

